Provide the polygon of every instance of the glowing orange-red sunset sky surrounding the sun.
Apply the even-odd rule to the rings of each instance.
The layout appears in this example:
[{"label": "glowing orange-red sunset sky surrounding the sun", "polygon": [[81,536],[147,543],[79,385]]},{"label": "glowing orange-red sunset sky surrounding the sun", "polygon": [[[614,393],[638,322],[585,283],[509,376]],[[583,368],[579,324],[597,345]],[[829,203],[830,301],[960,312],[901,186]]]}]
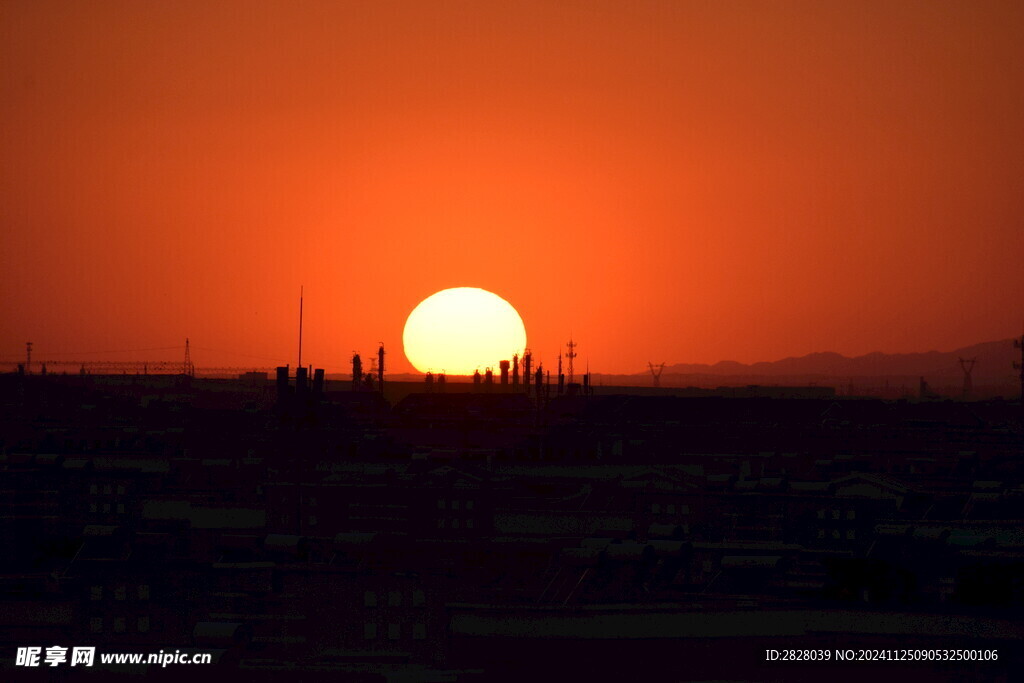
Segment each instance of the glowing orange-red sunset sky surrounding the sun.
[{"label": "glowing orange-red sunset sky surrounding the sun", "polygon": [[6,0],[0,359],[294,365],[300,286],[328,372],[411,371],[463,286],[606,373],[1020,335],[1022,35],[1015,1]]}]

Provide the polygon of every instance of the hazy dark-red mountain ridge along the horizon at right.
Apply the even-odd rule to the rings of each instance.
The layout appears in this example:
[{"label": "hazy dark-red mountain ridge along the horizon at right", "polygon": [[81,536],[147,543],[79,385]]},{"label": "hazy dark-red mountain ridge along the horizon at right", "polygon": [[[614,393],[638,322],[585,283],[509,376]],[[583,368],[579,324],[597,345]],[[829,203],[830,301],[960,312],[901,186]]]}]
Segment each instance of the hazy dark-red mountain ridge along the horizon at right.
[{"label": "hazy dark-red mountain ridge along the horizon at right", "polygon": [[[847,357],[831,351],[808,353],[799,357],[754,364],[721,360],[714,365],[676,364],[666,366],[663,378],[669,375],[711,377],[925,377],[926,379],[963,378],[959,358],[977,358],[972,378],[976,384],[1013,381],[1018,371],[1013,361],[1020,360],[1020,350],[1014,348],[1013,339],[984,342],[965,346],[953,351],[928,351],[924,353],[882,353]],[[649,373],[638,373],[648,375]]]}]

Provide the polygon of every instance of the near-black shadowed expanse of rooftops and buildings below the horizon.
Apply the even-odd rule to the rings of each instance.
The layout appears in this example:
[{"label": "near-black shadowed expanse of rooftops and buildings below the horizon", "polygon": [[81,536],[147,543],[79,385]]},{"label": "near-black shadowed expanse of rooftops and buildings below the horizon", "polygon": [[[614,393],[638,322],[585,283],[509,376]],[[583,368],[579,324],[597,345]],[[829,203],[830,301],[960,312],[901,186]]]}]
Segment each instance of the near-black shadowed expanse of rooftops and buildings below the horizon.
[{"label": "near-black shadowed expanse of rooftops and buildings below the horizon", "polygon": [[259,379],[0,376],[0,679],[1024,673],[1018,402]]}]

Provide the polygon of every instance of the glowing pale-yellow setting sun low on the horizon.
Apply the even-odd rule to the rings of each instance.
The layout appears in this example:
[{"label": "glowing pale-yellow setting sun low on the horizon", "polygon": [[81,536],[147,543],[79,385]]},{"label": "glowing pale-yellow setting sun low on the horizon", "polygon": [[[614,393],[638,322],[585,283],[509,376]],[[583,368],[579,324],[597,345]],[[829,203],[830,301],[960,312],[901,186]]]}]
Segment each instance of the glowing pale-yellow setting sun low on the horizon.
[{"label": "glowing pale-yellow setting sun low on the horizon", "polygon": [[526,328],[512,305],[476,287],[433,294],[413,309],[402,333],[406,357],[421,373],[470,375],[497,368],[526,346]]}]

